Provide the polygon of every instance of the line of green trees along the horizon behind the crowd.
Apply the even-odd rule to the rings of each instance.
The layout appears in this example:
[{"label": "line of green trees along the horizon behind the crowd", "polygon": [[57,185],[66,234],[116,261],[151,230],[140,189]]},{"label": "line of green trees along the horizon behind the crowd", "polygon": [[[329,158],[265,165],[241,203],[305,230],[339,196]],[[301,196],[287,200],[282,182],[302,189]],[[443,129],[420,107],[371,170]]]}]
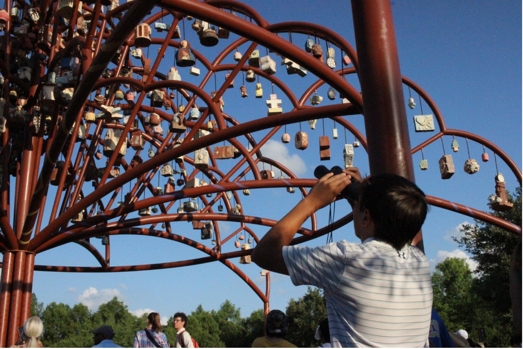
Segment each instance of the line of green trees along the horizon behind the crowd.
[{"label": "line of green trees along the horizon behind the crowd", "polygon": [[[514,197],[510,194],[508,197],[514,208],[492,214],[521,226],[521,188],[516,189]],[[464,236],[454,240],[478,263],[476,274],[464,259],[448,258],[439,263],[433,274],[433,306],[450,332],[467,330],[469,337],[479,342],[478,331],[484,329],[488,346],[507,347],[514,334],[509,266],[520,237],[492,225],[475,223],[464,226]],[[285,312],[289,342],[298,347],[321,344],[314,339],[314,333],[317,323],[327,317],[323,290],[309,287],[303,297],[289,301]],[[83,304],[71,307],[52,302],[44,307],[33,294],[31,316],[35,315],[43,320],[42,343],[46,347],[90,347],[93,335],[89,330],[103,324],[115,330],[115,343],[131,347],[135,333],[146,327],[147,317],[147,314],[133,315],[117,297],[92,312]],[[229,300],[218,310],[208,311],[198,306],[188,315],[187,322],[187,330],[201,347],[251,347],[257,337],[264,335],[263,310],[242,318],[240,308]],[[173,317],[169,318],[164,333],[168,342],[174,344]]]}]

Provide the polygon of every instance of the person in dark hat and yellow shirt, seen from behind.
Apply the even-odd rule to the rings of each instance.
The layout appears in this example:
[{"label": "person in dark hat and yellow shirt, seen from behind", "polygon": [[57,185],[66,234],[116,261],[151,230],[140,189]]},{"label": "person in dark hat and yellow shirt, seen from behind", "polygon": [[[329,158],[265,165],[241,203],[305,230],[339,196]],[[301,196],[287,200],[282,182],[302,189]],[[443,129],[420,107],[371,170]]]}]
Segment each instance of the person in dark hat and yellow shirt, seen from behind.
[{"label": "person in dark hat and yellow shirt, seen from behind", "polygon": [[281,310],[271,310],[265,323],[266,334],[254,340],[253,348],[296,348],[297,346],[283,339],[288,331],[285,313]]}]

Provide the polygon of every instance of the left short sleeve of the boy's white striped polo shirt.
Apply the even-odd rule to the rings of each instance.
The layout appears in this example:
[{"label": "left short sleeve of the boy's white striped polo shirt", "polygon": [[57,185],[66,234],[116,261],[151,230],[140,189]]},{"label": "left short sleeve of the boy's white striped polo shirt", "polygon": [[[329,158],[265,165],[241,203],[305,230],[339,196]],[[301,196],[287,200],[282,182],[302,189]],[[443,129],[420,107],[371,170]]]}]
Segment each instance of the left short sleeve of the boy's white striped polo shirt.
[{"label": "left short sleeve of the boy's white striped polo shirt", "polygon": [[335,290],[345,270],[345,245],[333,242],[320,247],[286,246],[282,250],[292,283]]}]

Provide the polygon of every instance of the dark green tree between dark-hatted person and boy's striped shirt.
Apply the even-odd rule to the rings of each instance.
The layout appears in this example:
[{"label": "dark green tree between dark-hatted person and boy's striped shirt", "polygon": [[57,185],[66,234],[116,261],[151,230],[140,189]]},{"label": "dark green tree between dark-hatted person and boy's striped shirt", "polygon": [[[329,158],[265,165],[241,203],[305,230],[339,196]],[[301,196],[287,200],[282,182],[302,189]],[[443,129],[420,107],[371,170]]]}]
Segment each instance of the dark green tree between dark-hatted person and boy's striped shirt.
[{"label": "dark green tree between dark-hatted person and boy's striped shirt", "polygon": [[289,322],[289,342],[298,347],[315,347],[321,344],[314,339],[318,323],[327,317],[325,297],[321,288],[309,286],[303,297],[298,300],[291,299],[286,315]]}]

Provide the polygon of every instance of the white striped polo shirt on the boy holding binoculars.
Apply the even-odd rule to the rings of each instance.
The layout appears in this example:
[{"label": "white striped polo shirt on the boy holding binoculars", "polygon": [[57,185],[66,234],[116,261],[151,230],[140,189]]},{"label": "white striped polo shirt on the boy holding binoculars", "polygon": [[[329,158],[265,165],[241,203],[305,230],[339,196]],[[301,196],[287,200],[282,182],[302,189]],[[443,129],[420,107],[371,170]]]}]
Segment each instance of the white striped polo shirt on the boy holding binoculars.
[{"label": "white striped polo shirt on the boy holding binoculars", "polygon": [[425,254],[369,238],[283,247],[294,285],[323,288],[333,347],[428,347],[432,282]]}]

